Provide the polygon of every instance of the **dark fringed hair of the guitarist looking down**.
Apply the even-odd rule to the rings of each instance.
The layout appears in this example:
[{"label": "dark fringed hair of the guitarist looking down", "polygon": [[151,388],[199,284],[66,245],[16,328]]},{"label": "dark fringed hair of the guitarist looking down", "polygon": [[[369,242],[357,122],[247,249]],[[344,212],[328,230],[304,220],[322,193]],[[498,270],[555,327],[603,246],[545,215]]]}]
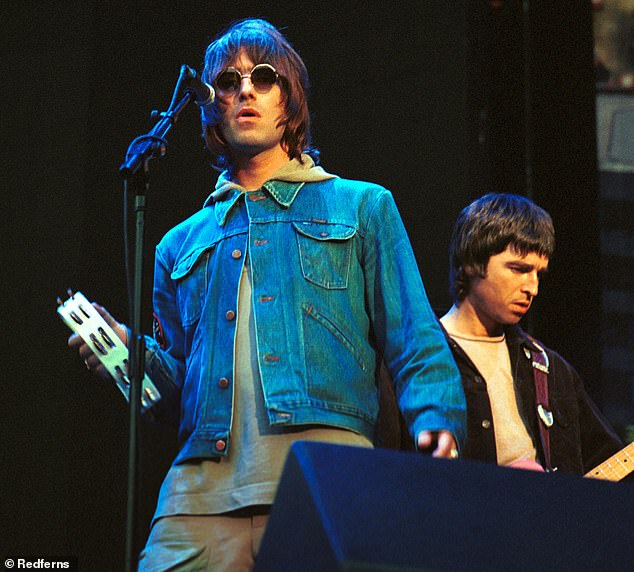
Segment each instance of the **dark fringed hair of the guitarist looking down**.
[{"label": "dark fringed hair of the guitarist looking down", "polygon": [[489,193],[462,209],[449,246],[454,302],[469,294],[469,274],[484,277],[491,256],[509,246],[521,256],[535,252],[550,258],[555,250],[550,215],[525,197],[504,193]]}]

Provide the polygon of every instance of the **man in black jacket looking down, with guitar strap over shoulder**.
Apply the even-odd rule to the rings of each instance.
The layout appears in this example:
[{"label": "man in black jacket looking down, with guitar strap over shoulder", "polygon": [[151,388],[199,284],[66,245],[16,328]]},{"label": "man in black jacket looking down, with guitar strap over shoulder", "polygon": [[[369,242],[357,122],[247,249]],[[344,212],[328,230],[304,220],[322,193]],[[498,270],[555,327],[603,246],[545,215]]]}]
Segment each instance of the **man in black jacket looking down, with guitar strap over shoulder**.
[{"label": "man in black jacket looking down, with guitar strap over shoulder", "polygon": [[572,366],[518,326],[554,247],[550,215],[520,196],[485,195],[456,221],[441,323],[467,397],[463,458],[582,474],[620,447]]}]

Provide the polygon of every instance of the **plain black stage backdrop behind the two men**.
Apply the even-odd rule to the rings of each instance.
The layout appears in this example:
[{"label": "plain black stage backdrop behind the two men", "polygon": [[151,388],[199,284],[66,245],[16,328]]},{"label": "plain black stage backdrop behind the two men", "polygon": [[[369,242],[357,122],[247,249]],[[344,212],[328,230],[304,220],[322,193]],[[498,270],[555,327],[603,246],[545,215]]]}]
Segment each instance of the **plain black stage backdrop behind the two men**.
[{"label": "plain black stage backdrop behind the two men", "polygon": [[[393,191],[435,307],[450,304],[447,245],[469,200],[517,192],[553,214],[530,326],[601,401],[591,13],[543,4],[526,28],[519,1],[3,2],[0,556],[123,567],[125,402],[66,348],[55,299],[71,287],[126,320],[118,167],[180,65],[200,69],[236,18],[270,19],[304,57],[324,166]],[[152,164],[146,331],[153,246],[215,180],[193,107]],[[145,538],[175,433],[146,426],[143,444]]]}]

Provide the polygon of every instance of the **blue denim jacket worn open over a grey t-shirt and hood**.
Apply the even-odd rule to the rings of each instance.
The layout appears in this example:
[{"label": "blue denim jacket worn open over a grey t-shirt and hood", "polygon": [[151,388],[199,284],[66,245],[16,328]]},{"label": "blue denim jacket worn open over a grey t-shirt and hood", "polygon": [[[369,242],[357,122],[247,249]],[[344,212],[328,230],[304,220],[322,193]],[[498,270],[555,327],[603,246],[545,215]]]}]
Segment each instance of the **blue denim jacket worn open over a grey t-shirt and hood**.
[{"label": "blue denim jacket worn open over a grey t-shirt and hood", "polygon": [[176,463],[231,443],[238,286],[249,253],[257,358],[273,425],[327,424],[372,439],[385,360],[410,432],[464,440],[458,370],[429,307],[392,195],[339,178],[269,180],[167,233],[156,249],[148,374],[180,401]]}]

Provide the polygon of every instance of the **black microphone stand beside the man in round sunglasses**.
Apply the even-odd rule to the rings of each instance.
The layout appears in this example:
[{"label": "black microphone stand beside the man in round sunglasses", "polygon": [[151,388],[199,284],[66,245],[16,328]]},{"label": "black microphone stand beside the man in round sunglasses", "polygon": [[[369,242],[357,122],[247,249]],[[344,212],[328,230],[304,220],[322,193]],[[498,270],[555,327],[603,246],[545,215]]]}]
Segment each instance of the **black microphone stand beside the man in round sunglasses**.
[{"label": "black microphone stand beside the man in round sunglasses", "polygon": [[[152,118],[159,118],[156,125],[147,133],[137,137],[130,143],[125,162],[119,168],[124,178],[124,236],[125,236],[125,266],[128,283],[128,298],[130,307],[130,325],[132,334],[128,339],[130,379],[130,427],[128,450],[128,499],[126,519],[126,552],[125,570],[134,572],[137,560],[137,509],[138,509],[138,475],[140,458],[140,418],[141,391],[145,376],[145,338],[141,333],[141,294],[143,277],[143,239],[145,234],[146,193],[149,189],[149,163],[155,157],[164,157],[167,153],[165,136],[176,123],[178,117],[187,104],[193,99],[190,92],[183,93],[182,85],[185,79],[185,66],[181,68],[181,75],[174,89],[172,101],[166,112],[152,112]],[[132,272],[129,264],[128,244],[128,196],[129,190],[135,194],[135,240],[134,264]]]}]

